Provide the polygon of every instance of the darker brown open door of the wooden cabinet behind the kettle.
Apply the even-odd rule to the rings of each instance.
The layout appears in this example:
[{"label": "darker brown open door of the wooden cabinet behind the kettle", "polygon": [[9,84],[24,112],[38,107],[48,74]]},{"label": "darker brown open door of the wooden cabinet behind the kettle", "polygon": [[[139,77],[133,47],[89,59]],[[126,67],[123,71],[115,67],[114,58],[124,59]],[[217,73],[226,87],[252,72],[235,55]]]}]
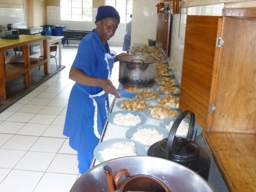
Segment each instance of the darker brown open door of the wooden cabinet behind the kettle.
[{"label": "darker brown open door of the wooden cabinet behind the kettle", "polygon": [[216,39],[222,18],[187,15],[185,47],[183,55],[180,109],[192,110],[195,122],[207,130],[214,61],[218,59]]}]

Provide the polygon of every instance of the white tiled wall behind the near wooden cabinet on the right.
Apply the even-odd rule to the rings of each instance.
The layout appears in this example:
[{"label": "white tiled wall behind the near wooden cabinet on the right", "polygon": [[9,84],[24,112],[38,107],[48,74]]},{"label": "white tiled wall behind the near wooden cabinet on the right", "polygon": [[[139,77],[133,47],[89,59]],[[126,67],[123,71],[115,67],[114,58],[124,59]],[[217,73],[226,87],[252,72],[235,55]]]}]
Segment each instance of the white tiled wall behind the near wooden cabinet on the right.
[{"label": "white tiled wall behind the near wooden cabinet on the right", "polygon": [[221,16],[224,3],[187,7],[180,10],[180,14],[173,15],[173,26],[171,34],[171,49],[169,63],[174,71],[175,78],[181,83],[181,72],[183,63],[183,52],[186,31],[187,15],[212,15]]}]

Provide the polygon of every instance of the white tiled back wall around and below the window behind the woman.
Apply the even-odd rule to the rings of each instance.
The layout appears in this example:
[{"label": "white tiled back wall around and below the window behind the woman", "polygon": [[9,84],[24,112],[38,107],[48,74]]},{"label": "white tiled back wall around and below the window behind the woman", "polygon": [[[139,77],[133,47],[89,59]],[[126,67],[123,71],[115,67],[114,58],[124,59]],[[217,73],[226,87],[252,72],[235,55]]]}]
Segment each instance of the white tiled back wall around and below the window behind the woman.
[{"label": "white tiled back wall around and below the window behind the woman", "polygon": [[[67,30],[83,30],[91,31],[95,28],[95,17],[97,15],[97,9],[93,9],[93,21],[61,21],[61,7],[59,6],[47,6],[47,25],[64,25]],[[123,38],[125,37],[126,23],[120,23],[118,29],[115,32],[114,37],[109,40],[109,44],[112,46],[122,46]],[[69,40],[70,44],[78,44],[80,41]]]}]

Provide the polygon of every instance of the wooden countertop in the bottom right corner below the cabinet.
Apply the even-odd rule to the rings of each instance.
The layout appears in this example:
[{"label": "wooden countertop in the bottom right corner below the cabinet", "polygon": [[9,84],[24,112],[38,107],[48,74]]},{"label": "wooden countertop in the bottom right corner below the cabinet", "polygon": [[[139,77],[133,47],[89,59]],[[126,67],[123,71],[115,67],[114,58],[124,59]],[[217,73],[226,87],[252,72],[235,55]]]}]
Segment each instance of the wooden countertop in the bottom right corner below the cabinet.
[{"label": "wooden countertop in the bottom right corner below the cabinet", "polygon": [[203,131],[230,191],[256,189],[256,134]]}]

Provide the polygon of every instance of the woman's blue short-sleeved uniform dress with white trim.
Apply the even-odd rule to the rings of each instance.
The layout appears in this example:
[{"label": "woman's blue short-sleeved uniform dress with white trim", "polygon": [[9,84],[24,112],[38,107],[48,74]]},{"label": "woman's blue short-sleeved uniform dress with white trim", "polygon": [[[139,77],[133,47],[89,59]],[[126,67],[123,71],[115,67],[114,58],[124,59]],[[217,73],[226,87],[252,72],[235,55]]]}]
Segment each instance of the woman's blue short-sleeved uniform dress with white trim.
[{"label": "woman's blue short-sleeved uniform dress with white trim", "polygon": [[[106,46],[107,49],[94,29],[80,42],[72,67],[91,77],[110,79],[116,54],[110,51],[107,42]],[[69,97],[63,135],[70,138],[69,145],[78,151],[81,174],[90,167],[108,110],[108,94],[101,87],[75,83]]]}]

